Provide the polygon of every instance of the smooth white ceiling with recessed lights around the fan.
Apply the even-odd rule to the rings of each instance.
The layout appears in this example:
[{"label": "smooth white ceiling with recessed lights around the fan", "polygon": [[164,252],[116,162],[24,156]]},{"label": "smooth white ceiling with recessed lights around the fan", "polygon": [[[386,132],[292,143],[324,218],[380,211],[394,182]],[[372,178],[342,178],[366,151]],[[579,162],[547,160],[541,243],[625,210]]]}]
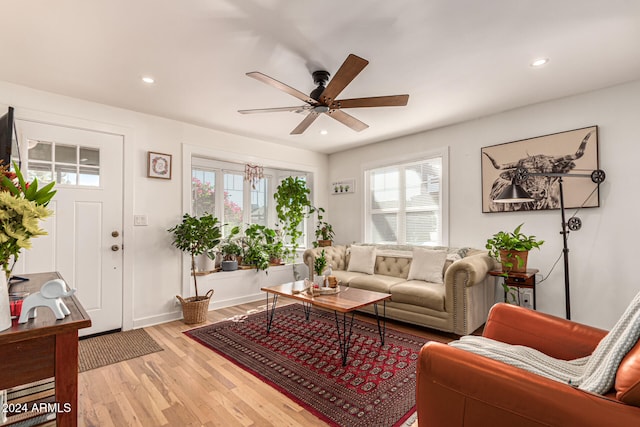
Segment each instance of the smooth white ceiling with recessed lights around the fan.
[{"label": "smooth white ceiling with recessed lights around the fan", "polygon": [[[637,0],[0,0],[0,80],[332,153],[640,78]],[[302,92],[349,53],[369,65],[340,98],[406,107],[322,115],[245,76]],[[537,57],[550,62],[529,66]],[[156,79],[141,83],[143,75]],[[320,135],[326,129],[327,135]]]}]

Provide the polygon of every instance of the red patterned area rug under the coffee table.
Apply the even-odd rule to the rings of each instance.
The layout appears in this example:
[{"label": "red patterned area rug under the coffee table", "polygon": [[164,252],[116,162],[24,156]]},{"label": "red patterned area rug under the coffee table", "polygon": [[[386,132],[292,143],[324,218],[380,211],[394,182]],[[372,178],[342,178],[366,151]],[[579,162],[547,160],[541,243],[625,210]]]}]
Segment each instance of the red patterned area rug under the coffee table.
[{"label": "red patterned area rug under the coffee table", "polygon": [[[341,315],[339,316],[342,321]],[[276,310],[271,333],[265,312],[185,332],[318,418],[335,426],[400,426],[415,412],[416,360],[425,338],[354,320],[342,366],[333,312],[300,304]]]}]

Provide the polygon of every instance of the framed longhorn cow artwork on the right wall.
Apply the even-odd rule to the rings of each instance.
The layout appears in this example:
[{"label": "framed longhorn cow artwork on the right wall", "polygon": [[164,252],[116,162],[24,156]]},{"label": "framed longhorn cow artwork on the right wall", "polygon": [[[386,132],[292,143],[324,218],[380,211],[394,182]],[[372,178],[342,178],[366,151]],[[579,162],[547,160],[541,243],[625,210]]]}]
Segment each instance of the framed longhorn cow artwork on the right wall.
[{"label": "framed longhorn cow artwork on the right wall", "polygon": [[519,168],[528,173],[567,174],[562,177],[567,209],[600,206],[598,185],[584,177],[599,169],[597,126],[483,147],[481,158],[483,213],[560,209],[558,176],[528,176],[516,182],[532,202],[495,203]]}]

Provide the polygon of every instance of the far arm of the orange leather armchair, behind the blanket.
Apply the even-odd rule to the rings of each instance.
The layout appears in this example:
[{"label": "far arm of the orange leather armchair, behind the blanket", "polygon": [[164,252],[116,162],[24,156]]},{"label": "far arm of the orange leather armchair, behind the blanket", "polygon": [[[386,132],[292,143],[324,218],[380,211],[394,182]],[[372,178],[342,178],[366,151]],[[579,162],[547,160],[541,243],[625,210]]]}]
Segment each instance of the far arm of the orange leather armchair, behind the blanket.
[{"label": "far arm of the orange leather armchair, behind the blanket", "polygon": [[483,336],[535,348],[556,359],[588,356],[607,331],[516,305],[491,308]]}]

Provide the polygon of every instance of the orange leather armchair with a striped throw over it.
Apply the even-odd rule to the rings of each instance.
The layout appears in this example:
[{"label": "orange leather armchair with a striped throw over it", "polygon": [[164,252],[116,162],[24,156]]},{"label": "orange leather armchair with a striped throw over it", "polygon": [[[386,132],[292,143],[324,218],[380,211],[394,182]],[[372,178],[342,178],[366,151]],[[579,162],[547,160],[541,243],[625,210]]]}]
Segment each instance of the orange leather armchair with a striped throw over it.
[{"label": "orange leather armchair with a striped throw over it", "polygon": [[[590,355],[606,333],[499,303],[483,335],[570,360]],[[601,396],[428,342],[418,360],[416,405],[419,426],[640,426],[640,343],[622,360],[614,388]]]}]

